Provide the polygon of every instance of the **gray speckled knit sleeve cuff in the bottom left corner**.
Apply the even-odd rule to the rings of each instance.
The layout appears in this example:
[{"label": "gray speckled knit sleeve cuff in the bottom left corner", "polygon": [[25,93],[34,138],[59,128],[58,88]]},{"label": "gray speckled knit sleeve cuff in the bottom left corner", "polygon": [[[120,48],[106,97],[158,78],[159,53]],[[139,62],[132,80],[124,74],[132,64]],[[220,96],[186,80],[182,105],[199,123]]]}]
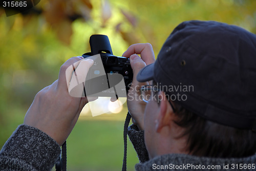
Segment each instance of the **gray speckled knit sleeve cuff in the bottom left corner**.
[{"label": "gray speckled knit sleeve cuff in the bottom left corner", "polygon": [[46,133],[22,124],[0,151],[0,170],[51,170],[60,151]]}]

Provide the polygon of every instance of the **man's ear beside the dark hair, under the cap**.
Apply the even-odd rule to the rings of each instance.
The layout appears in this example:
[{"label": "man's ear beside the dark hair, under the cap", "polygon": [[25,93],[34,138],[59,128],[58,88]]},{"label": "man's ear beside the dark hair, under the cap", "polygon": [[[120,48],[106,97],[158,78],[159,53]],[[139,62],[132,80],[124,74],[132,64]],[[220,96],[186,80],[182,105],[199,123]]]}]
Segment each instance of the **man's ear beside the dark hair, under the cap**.
[{"label": "man's ear beside the dark hair, under the cap", "polygon": [[159,133],[163,127],[170,126],[170,124],[172,124],[174,112],[164,92],[160,91],[158,93],[158,100],[160,105],[158,110],[158,118],[156,120],[156,131]]}]

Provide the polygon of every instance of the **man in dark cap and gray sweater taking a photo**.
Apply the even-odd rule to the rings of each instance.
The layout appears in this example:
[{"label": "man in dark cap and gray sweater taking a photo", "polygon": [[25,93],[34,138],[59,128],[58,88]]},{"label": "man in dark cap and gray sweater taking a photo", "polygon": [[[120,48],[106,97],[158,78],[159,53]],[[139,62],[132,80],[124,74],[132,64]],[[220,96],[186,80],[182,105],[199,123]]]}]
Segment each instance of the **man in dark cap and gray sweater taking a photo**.
[{"label": "man in dark cap and gray sweater taking a photo", "polygon": [[[190,21],[175,28],[156,61],[150,44],[124,52],[134,72],[127,106],[136,170],[256,170],[255,46],[256,36],[239,27]],[[1,168],[54,165],[87,102],[67,90],[65,70],[79,60],[65,62],[59,79],[36,95],[0,153]]]}]

